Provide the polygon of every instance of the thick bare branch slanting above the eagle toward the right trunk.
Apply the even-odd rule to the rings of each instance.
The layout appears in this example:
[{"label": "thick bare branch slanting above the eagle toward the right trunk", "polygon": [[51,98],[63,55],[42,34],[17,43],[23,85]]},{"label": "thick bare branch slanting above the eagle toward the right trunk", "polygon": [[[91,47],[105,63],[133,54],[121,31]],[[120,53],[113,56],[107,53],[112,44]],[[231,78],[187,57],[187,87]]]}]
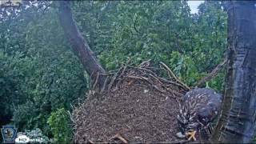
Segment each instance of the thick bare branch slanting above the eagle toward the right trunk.
[{"label": "thick bare branch slanting above the eagle toward the right trunk", "polygon": [[214,68],[214,70],[212,70],[210,72],[210,74],[208,74],[205,78],[202,78],[196,85],[195,87],[201,87],[202,85],[204,85],[206,83],[206,81],[209,81],[211,78],[214,78],[214,76],[218,73],[219,70],[222,70],[222,66],[224,66],[227,62],[227,58],[224,59],[224,61],[222,61],[222,63],[218,64],[218,66],[216,66]]}]

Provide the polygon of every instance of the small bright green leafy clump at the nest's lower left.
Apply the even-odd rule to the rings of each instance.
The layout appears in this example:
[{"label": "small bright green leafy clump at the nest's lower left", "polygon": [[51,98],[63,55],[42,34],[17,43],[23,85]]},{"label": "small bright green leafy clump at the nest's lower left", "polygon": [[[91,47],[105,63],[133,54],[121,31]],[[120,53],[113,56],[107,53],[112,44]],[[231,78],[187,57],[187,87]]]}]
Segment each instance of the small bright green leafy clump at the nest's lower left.
[{"label": "small bright green leafy clump at the nest's lower left", "polygon": [[69,115],[64,108],[50,114],[47,123],[54,134],[54,142],[71,143],[72,129],[69,125]]}]

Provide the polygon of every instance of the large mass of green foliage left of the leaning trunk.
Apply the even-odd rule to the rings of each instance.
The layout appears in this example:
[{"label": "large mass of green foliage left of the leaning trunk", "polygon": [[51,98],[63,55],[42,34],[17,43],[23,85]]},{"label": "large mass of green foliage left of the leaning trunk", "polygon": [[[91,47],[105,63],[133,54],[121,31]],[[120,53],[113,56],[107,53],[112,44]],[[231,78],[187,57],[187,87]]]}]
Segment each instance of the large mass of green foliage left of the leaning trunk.
[{"label": "large mass of green foliage left of the leaning trunk", "polygon": [[52,8],[45,14],[33,7],[22,10],[18,18],[0,22],[0,28],[1,125],[40,128],[50,137],[50,113],[71,110],[86,92],[82,65]]}]

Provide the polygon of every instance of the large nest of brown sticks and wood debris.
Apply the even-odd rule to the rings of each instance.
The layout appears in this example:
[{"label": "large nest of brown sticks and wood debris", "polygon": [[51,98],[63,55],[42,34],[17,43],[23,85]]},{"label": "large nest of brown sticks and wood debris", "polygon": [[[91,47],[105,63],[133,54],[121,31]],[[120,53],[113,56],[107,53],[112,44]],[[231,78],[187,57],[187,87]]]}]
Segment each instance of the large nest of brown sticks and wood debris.
[{"label": "large nest of brown sticks and wood debris", "polygon": [[101,74],[102,88],[90,90],[72,114],[74,142],[181,142],[175,136],[178,102],[189,87],[164,63],[148,66],[149,61]]}]

